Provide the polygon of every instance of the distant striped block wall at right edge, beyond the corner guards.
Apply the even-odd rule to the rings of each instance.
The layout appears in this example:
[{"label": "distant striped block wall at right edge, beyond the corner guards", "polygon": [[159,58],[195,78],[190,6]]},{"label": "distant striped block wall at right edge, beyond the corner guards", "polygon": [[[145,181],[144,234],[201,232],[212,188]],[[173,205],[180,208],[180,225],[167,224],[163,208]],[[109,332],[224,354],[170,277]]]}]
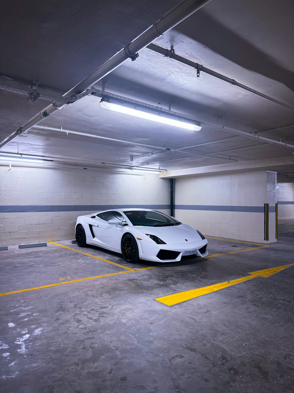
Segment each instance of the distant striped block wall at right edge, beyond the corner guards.
[{"label": "distant striped block wall at right edge, beyond the corner guards", "polygon": [[277,184],[278,219],[294,219],[294,183]]}]

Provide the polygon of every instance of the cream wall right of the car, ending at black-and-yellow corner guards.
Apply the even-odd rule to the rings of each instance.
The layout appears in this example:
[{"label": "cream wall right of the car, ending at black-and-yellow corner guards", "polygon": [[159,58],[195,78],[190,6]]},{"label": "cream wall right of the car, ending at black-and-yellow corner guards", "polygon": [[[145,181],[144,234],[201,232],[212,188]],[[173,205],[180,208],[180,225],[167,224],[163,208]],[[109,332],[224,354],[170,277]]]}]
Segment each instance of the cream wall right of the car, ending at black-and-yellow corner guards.
[{"label": "cream wall right of the car, ending at black-and-yellow corner guards", "polygon": [[[203,234],[252,242],[275,242],[276,173],[196,176],[175,180],[175,217]],[[264,204],[269,203],[269,241]],[[235,211],[234,211],[235,210]]]}]

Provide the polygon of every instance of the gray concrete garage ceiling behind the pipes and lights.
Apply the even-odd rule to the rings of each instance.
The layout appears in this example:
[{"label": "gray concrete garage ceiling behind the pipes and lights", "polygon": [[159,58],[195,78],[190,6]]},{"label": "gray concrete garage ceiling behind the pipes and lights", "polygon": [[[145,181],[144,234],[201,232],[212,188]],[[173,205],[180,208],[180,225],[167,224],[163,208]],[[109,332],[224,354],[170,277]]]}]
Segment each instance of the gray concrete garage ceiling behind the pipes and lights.
[{"label": "gray concrete garage ceiling behind the pipes and lights", "polygon": [[[25,86],[38,80],[40,87],[64,94],[178,1],[5,3],[0,74]],[[178,55],[294,107],[293,15],[292,0],[212,0],[154,43],[168,49],[173,46]],[[148,49],[104,80],[109,92],[152,105],[161,103],[166,109],[174,103],[172,110],[200,121],[294,144],[293,111],[205,73],[196,78],[193,68]],[[0,83],[5,82],[0,77]],[[102,81],[95,87],[101,89]],[[194,132],[132,118],[100,108],[99,101],[87,96],[40,124],[124,142],[29,130],[2,150],[168,170],[228,163],[234,170],[236,162],[229,162],[229,157],[238,162],[275,159],[270,170],[294,173],[291,149],[209,127]],[[44,99],[33,103],[25,95],[0,90],[0,141],[49,103]],[[171,150],[155,148],[164,146]],[[189,146],[193,147],[176,151]]]}]

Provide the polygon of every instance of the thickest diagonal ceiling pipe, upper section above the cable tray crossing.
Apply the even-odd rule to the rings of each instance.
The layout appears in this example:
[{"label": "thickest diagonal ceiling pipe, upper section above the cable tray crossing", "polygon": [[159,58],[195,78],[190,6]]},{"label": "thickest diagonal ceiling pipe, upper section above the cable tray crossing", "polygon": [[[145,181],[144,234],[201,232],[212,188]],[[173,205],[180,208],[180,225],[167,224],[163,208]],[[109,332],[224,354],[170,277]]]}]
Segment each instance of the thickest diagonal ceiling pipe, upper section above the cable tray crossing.
[{"label": "thickest diagonal ceiling pipe, upper section above the cable tray crossing", "polygon": [[162,18],[155,22],[149,29],[139,35],[134,41],[130,42],[125,48],[120,50],[111,59],[107,60],[100,67],[96,68],[87,78],[78,83],[74,88],[64,94],[66,97],[80,94],[94,83],[100,81],[103,77],[115,70],[118,66],[123,64],[129,57],[135,60],[138,57],[138,51],[145,48],[148,44],[160,37],[185,18],[198,11],[205,4],[211,0],[185,0],[176,5]]}]

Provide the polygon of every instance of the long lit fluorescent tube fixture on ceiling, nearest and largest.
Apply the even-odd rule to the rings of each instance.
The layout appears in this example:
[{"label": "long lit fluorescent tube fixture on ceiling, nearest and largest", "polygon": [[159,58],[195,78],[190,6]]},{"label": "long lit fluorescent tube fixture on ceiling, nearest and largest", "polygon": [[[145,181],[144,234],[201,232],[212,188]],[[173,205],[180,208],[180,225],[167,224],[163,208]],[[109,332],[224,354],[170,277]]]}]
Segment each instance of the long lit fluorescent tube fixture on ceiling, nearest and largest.
[{"label": "long lit fluorescent tube fixture on ceiling, nearest and largest", "polygon": [[185,118],[184,116],[177,116],[173,113],[169,114],[168,111],[162,110],[162,108],[157,108],[152,105],[147,105],[146,107],[138,105],[137,103],[128,103],[127,101],[115,101],[114,99],[107,98],[100,101],[100,106],[105,109],[111,109],[116,112],[124,113],[131,116],[136,116],[137,118],[142,118],[146,120],[157,121],[158,123],[168,124],[187,130],[200,131],[201,126],[193,123],[191,120]]}]

